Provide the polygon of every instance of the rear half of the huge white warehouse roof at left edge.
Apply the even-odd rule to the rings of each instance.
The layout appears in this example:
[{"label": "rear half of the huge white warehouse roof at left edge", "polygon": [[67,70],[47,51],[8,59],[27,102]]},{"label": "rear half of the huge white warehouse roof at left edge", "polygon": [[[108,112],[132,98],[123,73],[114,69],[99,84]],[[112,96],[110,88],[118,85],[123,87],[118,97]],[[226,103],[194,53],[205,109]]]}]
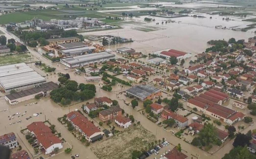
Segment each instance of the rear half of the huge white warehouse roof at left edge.
[{"label": "rear half of the huge white warehouse roof at left edge", "polygon": [[13,65],[6,65],[0,66],[0,77],[10,76],[15,74],[21,74],[25,72],[34,71],[25,63],[13,64]]}]

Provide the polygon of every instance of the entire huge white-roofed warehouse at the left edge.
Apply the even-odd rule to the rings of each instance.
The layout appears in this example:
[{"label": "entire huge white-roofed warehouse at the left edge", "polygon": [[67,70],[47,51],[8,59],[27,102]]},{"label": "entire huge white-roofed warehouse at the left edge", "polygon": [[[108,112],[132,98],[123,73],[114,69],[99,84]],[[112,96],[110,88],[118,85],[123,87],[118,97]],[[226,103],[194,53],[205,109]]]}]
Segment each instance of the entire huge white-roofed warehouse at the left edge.
[{"label": "entire huge white-roofed warehouse at the left edge", "polygon": [[5,92],[24,90],[46,82],[25,63],[0,66],[0,86]]}]

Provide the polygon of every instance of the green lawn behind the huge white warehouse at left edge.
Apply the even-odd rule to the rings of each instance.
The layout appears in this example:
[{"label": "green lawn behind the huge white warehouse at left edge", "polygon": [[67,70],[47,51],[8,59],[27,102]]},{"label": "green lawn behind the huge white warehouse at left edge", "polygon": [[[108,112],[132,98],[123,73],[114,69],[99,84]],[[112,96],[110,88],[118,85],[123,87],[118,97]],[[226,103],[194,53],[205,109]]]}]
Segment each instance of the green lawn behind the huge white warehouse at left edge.
[{"label": "green lawn behind the huge white warehouse at left edge", "polygon": [[0,66],[23,62],[30,62],[29,53],[0,56]]}]

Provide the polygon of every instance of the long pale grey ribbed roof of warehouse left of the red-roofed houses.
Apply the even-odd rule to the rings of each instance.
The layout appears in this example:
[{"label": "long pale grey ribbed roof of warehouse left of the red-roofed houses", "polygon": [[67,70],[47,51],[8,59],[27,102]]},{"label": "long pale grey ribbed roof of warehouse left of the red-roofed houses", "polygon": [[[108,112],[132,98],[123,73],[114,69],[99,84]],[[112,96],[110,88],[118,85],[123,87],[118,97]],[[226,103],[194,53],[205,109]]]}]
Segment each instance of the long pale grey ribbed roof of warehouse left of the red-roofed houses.
[{"label": "long pale grey ribbed roof of warehouse left of the red-roofed houses", "polygon": [[103,58],[107,58],[107,57],[115,57],[115,55],[108,53],[108,52],[98,52],[98,53],[62,58],[61,60],[68,64],[76,64],[76,63],[80,63],[80,62],[103,59]]}]

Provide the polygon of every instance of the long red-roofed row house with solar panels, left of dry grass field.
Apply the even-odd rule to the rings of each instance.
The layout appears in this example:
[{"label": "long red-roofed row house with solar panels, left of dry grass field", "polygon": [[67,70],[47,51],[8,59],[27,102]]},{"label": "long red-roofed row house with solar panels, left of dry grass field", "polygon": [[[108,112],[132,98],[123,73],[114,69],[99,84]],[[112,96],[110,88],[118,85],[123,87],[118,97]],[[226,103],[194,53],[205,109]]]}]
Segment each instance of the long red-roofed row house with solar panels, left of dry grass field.
[{"label": "long red-roofed row house with solar panels, left of dry grass field", "polygon": [[67,120],[89,142],[101,140],[104,133],[78,111],[67,114]]}]

